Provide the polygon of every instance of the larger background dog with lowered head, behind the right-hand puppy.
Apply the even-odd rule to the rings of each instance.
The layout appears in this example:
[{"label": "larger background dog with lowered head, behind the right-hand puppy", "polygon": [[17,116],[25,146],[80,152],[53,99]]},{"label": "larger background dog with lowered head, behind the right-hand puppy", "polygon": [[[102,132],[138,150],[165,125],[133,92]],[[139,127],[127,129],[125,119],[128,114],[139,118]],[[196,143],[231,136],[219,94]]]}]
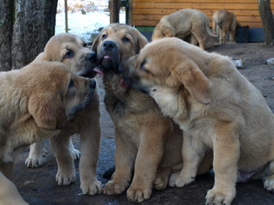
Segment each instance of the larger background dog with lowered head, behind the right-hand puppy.
[{"label": "larger background dog with lowered head, behind the right-hand puppy", "polygon": [[201,49],[219,46],[219,36],[210,31],[208,16],[194,9],[183,9],[173,14],[163,16],[155,27],[152,40],[164,37],[177,37],[182,40],[191,34],[191,44],[197,44]]}]

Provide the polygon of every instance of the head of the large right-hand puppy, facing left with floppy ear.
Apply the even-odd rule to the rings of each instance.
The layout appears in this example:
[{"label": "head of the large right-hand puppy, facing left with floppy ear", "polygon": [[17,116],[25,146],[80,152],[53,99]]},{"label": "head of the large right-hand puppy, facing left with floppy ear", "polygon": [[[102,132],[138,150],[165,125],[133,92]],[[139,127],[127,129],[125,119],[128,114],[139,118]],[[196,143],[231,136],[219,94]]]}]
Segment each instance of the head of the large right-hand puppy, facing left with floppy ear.
[{"label": "head of the large right-hand puppy, facing left with floppy ear", "polygon": [[[212,83],[201,70],[206,51],[178,38],[155,40],[121,63],[123,81],[153,97],[167,90],[186,89],[203,104],[210,103]],[[206,66],[206,65],[205,65]]]}]

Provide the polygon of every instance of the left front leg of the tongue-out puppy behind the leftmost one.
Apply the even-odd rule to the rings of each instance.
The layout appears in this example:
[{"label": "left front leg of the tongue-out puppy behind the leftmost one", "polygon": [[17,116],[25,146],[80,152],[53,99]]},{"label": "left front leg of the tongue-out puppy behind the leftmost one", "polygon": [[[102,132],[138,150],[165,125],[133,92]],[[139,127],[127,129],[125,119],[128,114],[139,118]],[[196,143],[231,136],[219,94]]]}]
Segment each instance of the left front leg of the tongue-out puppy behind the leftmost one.
[{"label": "left front leg of the tongue-out puppy behind the leftmost one", "polygon": [[73,153],[71,152],[71,137],[68,136],[70,135],[66,133],[66,129],[64,129],[60,134],[49,139],[58,164],[56,182],[58,182],[58,185],[63,186],[75,182]]}]

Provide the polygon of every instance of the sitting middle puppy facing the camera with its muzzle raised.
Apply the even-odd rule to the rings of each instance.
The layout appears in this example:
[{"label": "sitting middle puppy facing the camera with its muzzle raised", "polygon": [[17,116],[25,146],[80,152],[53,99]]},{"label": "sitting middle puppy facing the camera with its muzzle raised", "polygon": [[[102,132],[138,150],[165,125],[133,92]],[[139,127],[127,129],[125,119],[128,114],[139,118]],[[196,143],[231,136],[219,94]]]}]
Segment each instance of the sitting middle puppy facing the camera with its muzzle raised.
[{"label": "sitting middle puppy facing the camera with its muzzle raised", "polygon": [[[182,131],[162,115],[153,98],[123,84],[118,72],[120,62],[147,43],[138,30],[115,23],[92,44],[101,66],[95,70],[103,75],[105,106],[115,126],[116,170],[103,193],[121,194],[129,187],[127,198],[132,202],[148,200],[153,184],[165,189],[171,172],[182,167]],[[212,167],[208,156],[200,174]]]}]

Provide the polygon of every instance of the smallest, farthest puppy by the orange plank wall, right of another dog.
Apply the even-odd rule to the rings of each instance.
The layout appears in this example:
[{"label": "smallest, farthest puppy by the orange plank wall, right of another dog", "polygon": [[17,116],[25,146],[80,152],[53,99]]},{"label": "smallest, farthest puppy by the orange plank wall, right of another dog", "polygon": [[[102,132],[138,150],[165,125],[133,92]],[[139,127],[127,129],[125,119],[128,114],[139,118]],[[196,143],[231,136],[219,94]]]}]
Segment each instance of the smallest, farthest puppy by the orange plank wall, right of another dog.
[{"label": "smallest, farthest puppy by the orange plank wall, right of another dog", "polygon": [[219,35],[220,44],[227,44],[227,33],[229,31],[229,42],[234,41],[236,27],[240,26],[234,12],[227,12],[227,10],[217,10],[212,16],[212,30],[214,34]]}]

